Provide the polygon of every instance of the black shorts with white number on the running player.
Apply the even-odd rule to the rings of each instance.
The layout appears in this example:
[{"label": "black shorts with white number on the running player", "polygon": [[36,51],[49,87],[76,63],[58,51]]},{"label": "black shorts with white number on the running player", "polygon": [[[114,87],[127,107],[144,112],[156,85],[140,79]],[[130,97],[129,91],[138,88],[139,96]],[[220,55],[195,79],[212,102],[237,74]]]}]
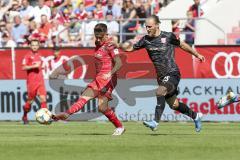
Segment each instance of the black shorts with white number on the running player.
[{"label": "black shorts with white number on the running player", "polygon": [[180,82],[180,79],[181,74],[179,72],[172,72],[162,78],[157,78],[158,85],[167,88],[167,94],[165,96],[166,99],[179,94],[178,84]]}]

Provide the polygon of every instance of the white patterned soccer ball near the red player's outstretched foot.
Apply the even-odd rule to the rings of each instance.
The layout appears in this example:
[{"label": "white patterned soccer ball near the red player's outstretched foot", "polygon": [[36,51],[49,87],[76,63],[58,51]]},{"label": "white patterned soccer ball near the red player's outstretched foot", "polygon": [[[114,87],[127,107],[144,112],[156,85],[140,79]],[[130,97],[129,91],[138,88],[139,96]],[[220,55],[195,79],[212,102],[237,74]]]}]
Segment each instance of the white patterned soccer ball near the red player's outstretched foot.
[{"label": "white patterned soccer ball near the red player's outstretched foot", "polygon": [[40,124],[51,124],[52,113],[47,108],[39,109],[35,114],[36,120]]}]

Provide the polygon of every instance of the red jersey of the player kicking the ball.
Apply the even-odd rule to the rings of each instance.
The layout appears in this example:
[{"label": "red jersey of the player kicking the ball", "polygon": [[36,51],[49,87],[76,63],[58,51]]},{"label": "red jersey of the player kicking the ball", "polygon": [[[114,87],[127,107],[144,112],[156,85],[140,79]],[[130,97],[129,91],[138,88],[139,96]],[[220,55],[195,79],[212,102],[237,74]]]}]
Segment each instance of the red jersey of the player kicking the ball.
[{"label": "red jersey of the player kicking the ball", "polygon": [[114,67],[113,58],[119,54],[117,47],[110,40],[95,48],[95,66],[97,75],[109,73]]}]

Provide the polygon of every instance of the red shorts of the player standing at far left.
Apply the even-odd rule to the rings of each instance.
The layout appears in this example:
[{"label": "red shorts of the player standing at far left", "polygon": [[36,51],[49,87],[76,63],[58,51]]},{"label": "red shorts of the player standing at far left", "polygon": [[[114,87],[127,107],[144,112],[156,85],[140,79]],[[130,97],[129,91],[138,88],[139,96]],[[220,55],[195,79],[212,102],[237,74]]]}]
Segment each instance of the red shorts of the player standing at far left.
[{"label": "red shorts of the player standing at far left", "polygon": [[28,98],[34,99],[37,95],[47,95],[44,84],[27,84]]}]

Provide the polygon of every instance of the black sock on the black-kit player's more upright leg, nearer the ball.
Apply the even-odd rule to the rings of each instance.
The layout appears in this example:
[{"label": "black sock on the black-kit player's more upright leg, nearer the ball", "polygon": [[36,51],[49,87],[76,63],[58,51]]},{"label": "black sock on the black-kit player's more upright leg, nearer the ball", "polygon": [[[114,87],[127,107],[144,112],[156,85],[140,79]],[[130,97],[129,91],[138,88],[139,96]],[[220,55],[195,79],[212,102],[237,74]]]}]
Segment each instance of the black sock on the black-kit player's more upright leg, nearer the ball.
[{"label": "black sock on the black-kit player's more upright leg, nearer the ball", "polygon": [[163,96],[157,97],[157,105],[155,108],[155,118],[154,118],[154,120],[157,123],[159,123],[159,121],[161,120],[164,108],[165,108],[165,97]]}]

